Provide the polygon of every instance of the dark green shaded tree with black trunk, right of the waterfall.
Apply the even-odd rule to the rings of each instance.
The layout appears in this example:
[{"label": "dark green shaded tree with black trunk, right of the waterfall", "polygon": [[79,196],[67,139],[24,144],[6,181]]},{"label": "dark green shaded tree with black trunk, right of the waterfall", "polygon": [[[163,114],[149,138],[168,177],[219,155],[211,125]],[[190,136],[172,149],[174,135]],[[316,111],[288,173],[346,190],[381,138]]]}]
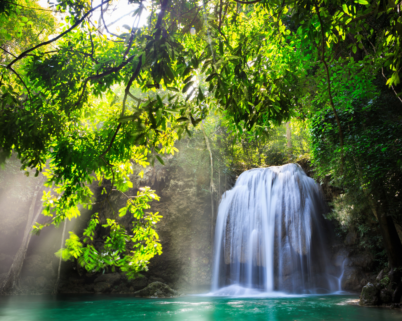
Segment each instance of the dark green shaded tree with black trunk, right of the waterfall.
[{"label": "dark green shaded tree with black trunk, right of the waterfall", "polygon": [[[330,125],[336,124],[328,110],[313,118],[312,152],[319,177],[331,175],[334,185],[347,193],[360,192],[360,202],[369,204],[388,255],[390,279],[395,285],[393,301],[399,302],[402,295],[399,270],[402,244],[394,221],[401,218],[402,132],[395,118],[399,106],[393,94],[387,94],[385,89],[371,100],[349,100],[349,109],[339,111],[341,128],[345,132],[343,166],[333,157],[339,152],[336,151],[339,147],[330,130]],[[359,206],[359,201],[355,202]]]}]

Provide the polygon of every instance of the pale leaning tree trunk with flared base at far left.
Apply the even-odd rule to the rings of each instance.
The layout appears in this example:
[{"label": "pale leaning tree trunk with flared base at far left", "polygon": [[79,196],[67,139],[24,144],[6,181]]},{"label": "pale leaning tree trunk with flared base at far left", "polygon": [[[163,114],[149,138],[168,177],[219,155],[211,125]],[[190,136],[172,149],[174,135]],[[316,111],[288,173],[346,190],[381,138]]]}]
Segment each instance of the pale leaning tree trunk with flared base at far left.
[{"label": "pale leaning tree trunk with flared base at far left", "polygon": [[0,295],[16,294],[18,291],[21,291],[17,287],[17,282],[20,277],[21,269],[23,267],[25,254],[27,253],[29,241],[31,240],[32,226],[35,223],[35,221],[37,220],[39,213],[41,212],[41,208],[40,208],[37,212],[37,215],[35,215],[35,217],[33,217],[37,197],[39,195],[39,190],[40,190],[41,186],[42,186],[42,184],[37,185],[35,187],[35,192],[33,193],[31,206],[29,207],[29,211],[28,211],[28,218],[27,218],[27,224],[25,226],[23,242],[21,243],[21,246],[18,249],[18,251],[14,257],[10,270],[8,270],[6,279],[3,281],[3,283],[0,286]]}]

